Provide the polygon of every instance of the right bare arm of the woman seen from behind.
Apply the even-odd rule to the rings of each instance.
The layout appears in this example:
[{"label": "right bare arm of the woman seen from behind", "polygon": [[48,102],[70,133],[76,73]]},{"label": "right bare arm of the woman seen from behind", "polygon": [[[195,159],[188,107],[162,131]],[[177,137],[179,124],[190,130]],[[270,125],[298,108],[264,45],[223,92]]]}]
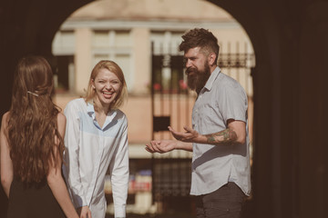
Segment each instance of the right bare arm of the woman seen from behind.
[{"label": "right bare arm of the woman seen from behind", "polygon": [[[57,126],[59,134],[64,137],[65,128],[66,128],[66,118],[64,114],[57,115]],[[61,165],[62,160],[59,155],[59,149],[57,148],[58,139],[56,138],[55,145],[55,154],[56,160],[52,160],[49,173],[46,177],[47,183],[54,194],[56,201],[59,203],[60,207],[63,209],[64,213],[67,217],[78,217],[75,207],[69,198],[69,194],[67,192],[67,186],[64,182],[64,179],[61,175]],[[55,164],[56,163],[56,164]],[[56,165],[56,166],[55,166]]]}]

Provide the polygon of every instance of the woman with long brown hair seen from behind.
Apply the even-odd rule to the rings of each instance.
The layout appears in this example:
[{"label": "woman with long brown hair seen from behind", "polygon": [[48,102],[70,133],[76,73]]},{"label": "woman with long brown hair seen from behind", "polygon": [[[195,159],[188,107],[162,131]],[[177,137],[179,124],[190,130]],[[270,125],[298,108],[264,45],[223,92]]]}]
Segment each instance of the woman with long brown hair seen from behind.
[{"label": "woman with long brown hair seen from behind", "polygon": [[7,217],[78,217],[61,174],[66,117],[52,102],[53,74],[41,56],[22,58],[1,124],[1,183]]}]

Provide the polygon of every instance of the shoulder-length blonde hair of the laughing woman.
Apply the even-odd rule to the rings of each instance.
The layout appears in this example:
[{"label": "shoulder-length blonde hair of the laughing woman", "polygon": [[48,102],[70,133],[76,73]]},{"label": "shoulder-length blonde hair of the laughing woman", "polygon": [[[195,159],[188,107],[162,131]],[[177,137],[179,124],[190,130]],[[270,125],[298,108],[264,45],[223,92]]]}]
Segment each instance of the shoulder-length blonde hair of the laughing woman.
[{"label": "shoulder-length blonde hair of the laughing woman", "polygon": [[113,61],[103,60],[95,65],[90,74],[90,79],[87,85],[87,94],[84,99],[86,103],[91,102],[91,100],[94,99],[96,91],[92,88],[92,82],[95,81],[95,78],[97,77],[97,74],[101,69],[108,69],[108,71],[110,71],[111,73],[116,74],[118,76],[119,82],[122,84],[116,99],[109,106],[110,110],[118,109],[121,105],[124,104],[124,101],[127,99],[128,88],[122,69],[118,66],[118,64]]}]

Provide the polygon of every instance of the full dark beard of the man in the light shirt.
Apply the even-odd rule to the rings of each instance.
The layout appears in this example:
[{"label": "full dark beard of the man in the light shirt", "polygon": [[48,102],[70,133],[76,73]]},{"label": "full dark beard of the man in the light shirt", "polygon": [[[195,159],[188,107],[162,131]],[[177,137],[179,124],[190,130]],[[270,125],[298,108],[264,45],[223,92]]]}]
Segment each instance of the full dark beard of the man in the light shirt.
[{"label": "full dark beard of the man in the light shirt", "polygon": [[188,75],[188,86],[190,89],[195,90],[197,94],[200,94],[200,90],[210,78],[210,65],[204,64],[203,70],[191,67],[187,68],[186,74]]}]

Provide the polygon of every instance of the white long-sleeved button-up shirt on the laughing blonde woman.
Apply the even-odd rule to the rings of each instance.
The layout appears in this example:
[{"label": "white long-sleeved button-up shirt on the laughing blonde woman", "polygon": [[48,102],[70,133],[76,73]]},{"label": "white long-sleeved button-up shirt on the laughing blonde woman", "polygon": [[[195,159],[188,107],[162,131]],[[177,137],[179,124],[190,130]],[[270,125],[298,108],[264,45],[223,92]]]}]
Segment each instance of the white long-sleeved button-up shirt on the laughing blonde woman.
[{"label": "white long-sleeved button-up shirt on the laughing blonde woman", "polygon": [[107,203],[107,171],[113,191],[115,217],[126,216],[128,197],[128,120],[120,110],[110,111],[102,127],[93,104],[82,98],[65,109],[67,129],[63,172],[76,207],[89,206],[93,218],[103,218]]}]

